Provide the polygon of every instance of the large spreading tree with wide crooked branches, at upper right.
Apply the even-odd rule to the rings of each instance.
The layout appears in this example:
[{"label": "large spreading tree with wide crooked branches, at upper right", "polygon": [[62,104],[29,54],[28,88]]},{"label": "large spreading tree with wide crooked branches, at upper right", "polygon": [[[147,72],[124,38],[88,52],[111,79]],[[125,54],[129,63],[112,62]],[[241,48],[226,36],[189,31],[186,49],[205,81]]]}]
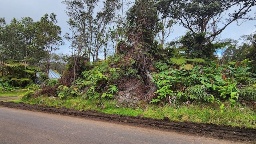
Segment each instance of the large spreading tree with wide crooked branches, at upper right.
[{"label": "large spreading tree with wide crooked branches, at upper right", "polygon": [[175,7],[165,8],[163,12],[176,18],[182,26],[190,30],[193,37],[193,51],[198,58],[209,57],[213,53],[214,50],[205,44],[212,43],[228,25],[233,22],[241,24],[256,18],[255,15],[250,16],[256,0],[168,0],[168,2],[169,6],[175,5]]}]

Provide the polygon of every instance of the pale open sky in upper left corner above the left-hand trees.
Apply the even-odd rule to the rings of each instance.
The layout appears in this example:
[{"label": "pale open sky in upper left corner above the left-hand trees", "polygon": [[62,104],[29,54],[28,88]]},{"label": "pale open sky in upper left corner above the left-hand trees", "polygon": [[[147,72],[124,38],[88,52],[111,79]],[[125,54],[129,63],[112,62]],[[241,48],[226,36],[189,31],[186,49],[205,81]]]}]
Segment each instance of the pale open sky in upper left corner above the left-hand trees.
[{"label": "pale open sky in upper left corner above the left-hand trees", "polygon": [[[21,20],[23,17],[31,17],[34,21],[40,20],[44,14],[57,14],[58,26],[62,29],[62,36],[69,32],[68,16],[64,11],[66,6],[62,0],[0,0],[0,18],[4,17],[9,24],[13,18]],[[71,54],[68,42],[60,47],[58,53]]]}]

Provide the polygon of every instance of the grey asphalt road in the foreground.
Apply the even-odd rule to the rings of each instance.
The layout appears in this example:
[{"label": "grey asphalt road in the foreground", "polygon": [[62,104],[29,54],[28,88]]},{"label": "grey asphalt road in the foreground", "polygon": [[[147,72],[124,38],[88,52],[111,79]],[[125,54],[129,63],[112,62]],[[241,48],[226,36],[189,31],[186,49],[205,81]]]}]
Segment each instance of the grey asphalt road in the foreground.
[{"label": "grey asphalt road in the foreground", "polygon": [[238,144],[238,142],[0,107],[0,144]]}]

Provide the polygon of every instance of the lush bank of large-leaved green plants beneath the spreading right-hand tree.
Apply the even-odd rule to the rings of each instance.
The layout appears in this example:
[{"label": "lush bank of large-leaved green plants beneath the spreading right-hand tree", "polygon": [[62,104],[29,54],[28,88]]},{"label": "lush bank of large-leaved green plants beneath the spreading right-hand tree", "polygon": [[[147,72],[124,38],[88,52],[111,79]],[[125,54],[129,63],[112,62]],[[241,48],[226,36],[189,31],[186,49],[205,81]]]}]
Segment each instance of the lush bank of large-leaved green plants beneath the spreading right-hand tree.
[{"label": "lush bank of large-leaved green plants beneath the spreading right-hand tree", "polygon": [[[158,87],[156,91],[158,98],[153,99],[152,102],[158,102],[166,98],[169,99],[168,102],[170,102],[170,99],[175,99],[177,102],[180,98],[180,102],[196,100],[198,102],[219,103],[219,98],[222,98],[230,100],[231,105],[235,104],[239,96],[237,84],[254,84],[256,80],[256,75],[249,72],[251,68],[246,65],[246,62],[249,61],[244,60],[241,63],[230,62],[223,66],[215,63],[207,66],[196,65],[192,66],[192,69],[184,68],[184,65],[182,65],[184,62],[182,62],[179,63],[178,69],[170,68],[158,74],[153,72],[154,79],[152,81]],[[162,70],[164,69],[162,68]],[[167,89],[166,86],[168,86]],[[170,94],[167,94],[168,91]],[[178,93],[185,94],[179,97]],[[245,98],[248,95],[245,90],[241,94]]]}]

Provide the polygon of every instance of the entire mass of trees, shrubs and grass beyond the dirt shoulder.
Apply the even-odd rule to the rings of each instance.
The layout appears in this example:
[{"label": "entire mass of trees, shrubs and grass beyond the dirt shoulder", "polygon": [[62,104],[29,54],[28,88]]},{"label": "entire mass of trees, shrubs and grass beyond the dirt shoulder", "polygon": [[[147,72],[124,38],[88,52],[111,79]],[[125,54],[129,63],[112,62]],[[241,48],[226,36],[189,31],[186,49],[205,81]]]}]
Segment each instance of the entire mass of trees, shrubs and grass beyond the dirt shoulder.
[{"label": "entire mass of trees, shrubs and grass beyond the dirt shoulder", "polygon": [[[106,0],[96,13],[97,0],[62,3],[70,18],[67,58],[52,54],[62,44],[55,14],[1,19],[1,92],[23,88],[21,101],[30,104],[255,128],[256,34],[242,44],[216,40],[232,22],[254,19],[253,0],[136,0],[126,17],[124,1]],[[166,42],[174,24],[188,31]],[[48,80],[49,68],[62,77]],[[32,84],[41,70],[44,84]]]}]

